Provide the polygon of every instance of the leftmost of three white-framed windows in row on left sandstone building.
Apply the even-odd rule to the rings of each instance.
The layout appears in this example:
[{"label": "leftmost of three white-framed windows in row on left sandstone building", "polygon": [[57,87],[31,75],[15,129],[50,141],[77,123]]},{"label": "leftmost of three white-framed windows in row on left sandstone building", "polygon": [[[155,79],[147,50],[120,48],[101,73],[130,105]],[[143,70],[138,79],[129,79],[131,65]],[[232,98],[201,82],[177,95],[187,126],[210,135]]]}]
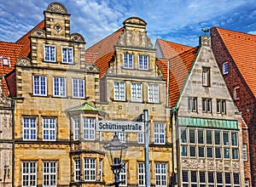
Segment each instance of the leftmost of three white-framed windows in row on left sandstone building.
[{"label": "leftmost of three white-framed windows in row on left sandstone building", "polygon": [[47,95],[47,82],[45,76],[33,76],[33,94]]}]

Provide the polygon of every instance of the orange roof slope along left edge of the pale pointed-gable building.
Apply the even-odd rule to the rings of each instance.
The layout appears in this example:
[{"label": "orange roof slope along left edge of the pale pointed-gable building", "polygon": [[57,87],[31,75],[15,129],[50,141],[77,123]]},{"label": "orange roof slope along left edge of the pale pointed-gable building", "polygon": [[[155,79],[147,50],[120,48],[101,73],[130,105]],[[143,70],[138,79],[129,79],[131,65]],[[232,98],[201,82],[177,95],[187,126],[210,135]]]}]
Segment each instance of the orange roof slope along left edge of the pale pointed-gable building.
[{"label": "orange roof slope along left edge of the pale pointed-gable building", "polygon": [[164,80],[167,83],[168,60],[169,63],[169,106],[174,107],[177,99],[183,90],[183,85],[189,76],[189,71],[195,60],[199,47],[191,48],[182,54],[178,54],[171,59],[157,59],[157,65],[160,66],[164,74]]}]

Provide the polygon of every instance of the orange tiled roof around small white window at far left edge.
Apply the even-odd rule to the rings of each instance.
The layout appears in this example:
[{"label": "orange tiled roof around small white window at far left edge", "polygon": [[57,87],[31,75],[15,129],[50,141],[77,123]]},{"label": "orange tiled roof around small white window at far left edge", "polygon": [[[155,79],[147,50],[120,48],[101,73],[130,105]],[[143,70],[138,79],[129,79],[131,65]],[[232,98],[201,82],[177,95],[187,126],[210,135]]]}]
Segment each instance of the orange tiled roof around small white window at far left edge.
[{"label": "orange tiled roof around small white window at far left edge", "polygon": [[[7,75],[10,71],[15,69],[16,60],[21,56],[23,45],[15,42],[0,42],[0,57],[9,58],[10,65],[0,65],[0,76]],[[3,93],[9,95],[7,83],[4,79],[2,81]]]}]

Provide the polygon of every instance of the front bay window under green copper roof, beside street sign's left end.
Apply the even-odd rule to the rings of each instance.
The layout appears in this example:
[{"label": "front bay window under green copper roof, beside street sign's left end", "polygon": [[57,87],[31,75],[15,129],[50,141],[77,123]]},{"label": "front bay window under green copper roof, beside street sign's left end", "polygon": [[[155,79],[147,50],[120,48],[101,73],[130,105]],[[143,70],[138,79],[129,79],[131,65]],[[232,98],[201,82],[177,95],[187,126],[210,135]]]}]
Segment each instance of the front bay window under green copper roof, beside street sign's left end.
[{"label": "front bay window under green copper roof, beside street sign's left end", "polygon": [[95,118],[84,117],[84,140],[95,140]]}]

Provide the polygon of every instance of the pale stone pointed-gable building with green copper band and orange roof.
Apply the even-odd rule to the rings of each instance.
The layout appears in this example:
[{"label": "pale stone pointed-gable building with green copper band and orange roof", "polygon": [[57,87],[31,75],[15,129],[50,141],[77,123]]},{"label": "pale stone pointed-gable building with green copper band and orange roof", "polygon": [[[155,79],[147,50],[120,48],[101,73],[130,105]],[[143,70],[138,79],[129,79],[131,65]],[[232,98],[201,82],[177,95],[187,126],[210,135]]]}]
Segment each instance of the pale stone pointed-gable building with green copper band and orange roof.
[{"label": "pale stone pointed-gable building with green copper band and orange roof", "polygon": [[[160,66],[166,61],[159,59]],[[178,186],[244,186],[241,114],[218,70],[210,37],[168,61]]]}]

